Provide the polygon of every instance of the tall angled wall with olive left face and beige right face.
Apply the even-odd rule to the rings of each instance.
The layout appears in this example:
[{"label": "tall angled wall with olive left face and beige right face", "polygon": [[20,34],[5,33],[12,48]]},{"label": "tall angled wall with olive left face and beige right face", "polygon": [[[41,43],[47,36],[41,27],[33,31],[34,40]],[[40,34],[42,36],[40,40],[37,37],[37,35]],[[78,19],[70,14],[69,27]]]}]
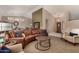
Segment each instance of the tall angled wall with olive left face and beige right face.
[{"label": "tall angled wall with olive left face and beige right face", "polygon": [[[40,22],[41,29],[47,29],[48,32],[55,32],[56,22],[53,16],[45,9],[39,9],[32,13],[33,22]],[[47,24],[46,24],[47,20]]]}]

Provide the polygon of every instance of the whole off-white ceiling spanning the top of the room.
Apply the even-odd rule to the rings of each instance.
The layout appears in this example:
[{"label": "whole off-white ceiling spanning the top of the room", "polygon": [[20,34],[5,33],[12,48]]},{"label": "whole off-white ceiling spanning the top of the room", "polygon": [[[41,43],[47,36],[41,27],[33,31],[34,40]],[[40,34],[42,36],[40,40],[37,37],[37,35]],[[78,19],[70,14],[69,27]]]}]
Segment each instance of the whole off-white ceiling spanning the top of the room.
[{"label": "whole off-white ceiling spanning the top of the room", "polygon": [[52,15],[55,12],[69,11],[71,18],[79,19],[79,5],[0,5],[0,16],[32,17],[32,12],[44,8]]}]

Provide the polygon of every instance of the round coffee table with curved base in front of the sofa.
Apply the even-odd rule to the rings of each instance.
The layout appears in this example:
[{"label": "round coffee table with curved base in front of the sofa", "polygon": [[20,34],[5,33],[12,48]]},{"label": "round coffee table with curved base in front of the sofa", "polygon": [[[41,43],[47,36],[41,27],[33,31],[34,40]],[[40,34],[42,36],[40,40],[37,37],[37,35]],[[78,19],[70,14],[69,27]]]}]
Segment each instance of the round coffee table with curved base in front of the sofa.
[{"label": "round coffee table with curved base in front of the sofa", "polygon": [[36,37],[37,43],[35,48],[41,51],[48,50],[50,48],[50,38],[48,36],[38,36]]}]

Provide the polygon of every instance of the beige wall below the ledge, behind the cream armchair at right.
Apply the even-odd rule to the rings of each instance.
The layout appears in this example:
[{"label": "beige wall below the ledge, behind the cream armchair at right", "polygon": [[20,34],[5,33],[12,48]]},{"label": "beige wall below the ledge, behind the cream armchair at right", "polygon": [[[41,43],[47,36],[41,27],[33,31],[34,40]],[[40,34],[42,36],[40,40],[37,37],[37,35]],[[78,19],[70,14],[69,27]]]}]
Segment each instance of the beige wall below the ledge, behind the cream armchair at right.
[{"label": "beige wall below the ledge, behind the cream armchair at right", "polygon": [[79,29],[79,20],[67,21],[64,26],[64,32],[71,32],[72,29]]}]

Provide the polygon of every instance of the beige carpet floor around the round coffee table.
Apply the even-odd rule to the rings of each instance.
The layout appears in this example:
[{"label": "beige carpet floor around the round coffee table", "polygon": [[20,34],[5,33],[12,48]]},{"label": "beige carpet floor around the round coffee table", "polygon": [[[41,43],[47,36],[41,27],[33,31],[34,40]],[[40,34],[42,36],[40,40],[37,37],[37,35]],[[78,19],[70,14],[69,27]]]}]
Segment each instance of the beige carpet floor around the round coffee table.
[{"label": "beige carpet floor around the round coffee table", "polygon": [[35,48],[35,44],[37,41],[33,41],[28,44],[24,52],[25,53],[78,53],[79,52],[79,44],[76,46],[72,45],[69,42],[66,42],[60,38],[52,37],[51,38],[51,47],[46,51],[41,51]]}]

